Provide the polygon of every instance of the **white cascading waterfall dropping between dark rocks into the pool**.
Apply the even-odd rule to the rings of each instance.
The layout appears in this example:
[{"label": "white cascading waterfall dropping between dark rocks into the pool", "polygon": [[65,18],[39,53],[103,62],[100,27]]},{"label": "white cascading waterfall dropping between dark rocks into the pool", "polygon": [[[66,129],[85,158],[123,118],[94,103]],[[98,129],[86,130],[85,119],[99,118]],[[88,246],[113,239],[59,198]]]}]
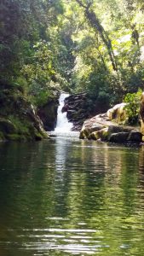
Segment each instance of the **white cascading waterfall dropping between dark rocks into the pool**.
[{"label": "white cascading waterfall dropping between dark rocks into the pool", "polygon": [[58,108],[58,115],[57,115],[57,124],[55,131],[65,133],[67,131],[71,131],[72,129],[72,123],[69,123],[66,118],[66,112],[62,113],[61,110],[64,106],[64,101],[66,97],[69,96],[67,93],[61,93],[60,99],[59,99],[59,108]]}]

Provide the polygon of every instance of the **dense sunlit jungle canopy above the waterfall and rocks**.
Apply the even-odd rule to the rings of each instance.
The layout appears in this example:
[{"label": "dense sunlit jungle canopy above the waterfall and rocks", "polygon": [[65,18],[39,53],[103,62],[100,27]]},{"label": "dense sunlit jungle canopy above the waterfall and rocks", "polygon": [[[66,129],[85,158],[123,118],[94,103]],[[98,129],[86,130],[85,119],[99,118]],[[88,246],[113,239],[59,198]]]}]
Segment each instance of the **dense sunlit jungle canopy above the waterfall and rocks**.
[{"label": "dense sunlit jungle canopy above the waterfall and rocks", "polygon": [[143,90],[143,0],[1,0],[0,80],[36,105],[53,90],[110,105]]}]

